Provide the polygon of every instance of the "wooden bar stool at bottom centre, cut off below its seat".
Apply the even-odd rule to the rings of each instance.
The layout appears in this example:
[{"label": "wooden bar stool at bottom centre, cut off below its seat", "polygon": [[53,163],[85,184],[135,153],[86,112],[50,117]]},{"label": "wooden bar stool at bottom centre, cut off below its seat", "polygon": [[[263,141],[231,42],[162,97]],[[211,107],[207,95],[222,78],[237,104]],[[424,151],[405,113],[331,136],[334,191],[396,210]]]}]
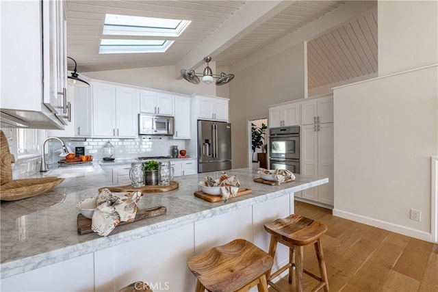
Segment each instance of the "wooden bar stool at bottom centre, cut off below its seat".
[{"label": "wooden bar stool at bottom centre, cut off below its seat", "polygon": [[266,273],[272,263],[272,256],[244,239],[216,246],[187,261],[197,279],[196,292],[248,291],[255,285],[260,292],[268,292]]}]

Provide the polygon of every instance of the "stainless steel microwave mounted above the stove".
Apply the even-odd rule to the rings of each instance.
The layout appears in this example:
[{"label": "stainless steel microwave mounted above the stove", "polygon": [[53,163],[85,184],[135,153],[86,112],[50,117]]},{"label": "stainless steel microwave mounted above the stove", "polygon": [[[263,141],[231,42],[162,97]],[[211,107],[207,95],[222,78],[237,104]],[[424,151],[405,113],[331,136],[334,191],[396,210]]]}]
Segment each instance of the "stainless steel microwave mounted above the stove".
[{"label": "stainless steel microwave mounted above the stove", "polygon": [[174,118],[171,116],[138,115],[139,135],[173,135]]}]

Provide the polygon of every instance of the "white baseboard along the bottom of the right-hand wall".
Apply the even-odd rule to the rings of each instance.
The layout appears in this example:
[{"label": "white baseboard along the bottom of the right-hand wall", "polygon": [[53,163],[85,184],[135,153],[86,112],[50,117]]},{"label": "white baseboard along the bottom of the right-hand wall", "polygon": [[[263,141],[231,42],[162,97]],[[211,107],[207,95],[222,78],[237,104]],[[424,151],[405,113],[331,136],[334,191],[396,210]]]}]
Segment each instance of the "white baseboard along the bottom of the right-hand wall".
[{"label": "white baseboard along the bottom of the right-hand wall", "polygon": [[352,220],[355,222],[367,224],[370,226],[374,226],[377,228],[382,228],[385,230],[392,231],[394,233],[400,233],[402,235],[407,235],[409,237],[414,237],[417,239],[422,239],[425,241],[432,241],[432,235],[430,233],[426,233],[422,230],[417,230],[413,228],[409,228],[406,226],[385,222],[382,220],[374,219],[371,217],[365,217],[362,215],[357,215],[354,213],[333,209],[333,216],[342,217],[344,219]]}]

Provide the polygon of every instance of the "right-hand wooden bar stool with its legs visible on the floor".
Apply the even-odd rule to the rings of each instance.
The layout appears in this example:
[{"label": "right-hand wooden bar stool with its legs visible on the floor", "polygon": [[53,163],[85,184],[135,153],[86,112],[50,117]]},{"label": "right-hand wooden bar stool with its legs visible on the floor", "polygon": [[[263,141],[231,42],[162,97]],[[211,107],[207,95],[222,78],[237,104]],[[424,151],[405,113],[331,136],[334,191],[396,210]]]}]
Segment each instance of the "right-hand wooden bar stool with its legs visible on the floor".
[{"label": "right-hand wooden bar stool with its legs visible on the floor", "polygon": [[[265,230],[271,234],[269,245],[269,254],[274,258],[276,251],[276,243],[282,243],[289,247],[289,263],[281,267],[273,274],[268,273],[268,284],[277,291],[282,291],[271,280],[279,276],[286,269],[289,269],[289,284],[292,284],[293,269],[296,269],[296,287],[298,291],[302,291],[302,272],[320,281],[312,291],[318,291],[324,287],[325,292],[329,292],[329,281],[327,279],[326,264],[324,262],[324,254],[320,238],[326,233],[327,226],[324,223],[316,222],[300,215],[290,215],[286,218],[277,219],[272,223],[264,225]],[[306,245],[313,244],[315,247],[318,265],[320,267],[320,277],[312,274],[303,268],[303,248]]]}]

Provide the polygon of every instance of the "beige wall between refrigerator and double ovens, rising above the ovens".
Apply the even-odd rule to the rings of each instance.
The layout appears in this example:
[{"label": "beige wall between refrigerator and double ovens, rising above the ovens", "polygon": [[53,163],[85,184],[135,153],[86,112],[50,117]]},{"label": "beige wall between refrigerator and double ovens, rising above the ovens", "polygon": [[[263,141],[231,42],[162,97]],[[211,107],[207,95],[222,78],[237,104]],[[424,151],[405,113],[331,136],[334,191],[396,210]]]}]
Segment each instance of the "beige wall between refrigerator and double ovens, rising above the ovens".
[{"label": "beige wall between refrigerator and double ovens, rising above the ovens", "polygon": [[236,73],[229,83],[233,168],[248,165],[247,120],[268,118],[268,106],[304,98],[304,43]]}]

